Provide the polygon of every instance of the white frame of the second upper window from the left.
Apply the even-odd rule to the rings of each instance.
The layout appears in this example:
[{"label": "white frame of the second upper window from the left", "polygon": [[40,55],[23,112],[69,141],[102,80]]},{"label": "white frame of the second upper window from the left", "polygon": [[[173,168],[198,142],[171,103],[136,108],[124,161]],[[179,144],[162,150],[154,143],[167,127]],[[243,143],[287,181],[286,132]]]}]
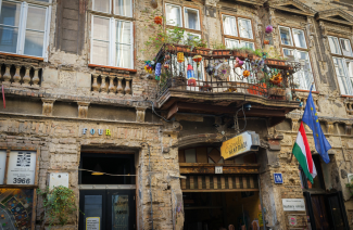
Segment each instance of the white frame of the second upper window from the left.
[{"label": "white frame of the second upper window from the left", "polygon": [[[91,9],[93,9],[94,7],[94,1],[97,0],[93,0],[92,1],[92,4],[91,4]],[[115,9],[114,9],[114,3],[115,3],[115,0],[110,0],[111,2],[111,12],[114,12],[114,13],[104,13],[104,12],[101,12],[101,11],[94,11],[92,10],[90,12],[90,29],[89,29],[89,47],[90,47],[90,52],[89,52],[89,64],[88,66],[92,66],[92,67],[97,67],[97,66],[104,66],[104,67],[108,67],[108,68],[116,68],[116,69],[127,69],[129,72],[135,72],[135,64],[136,64],[136,52],[135,52],[135,22],[134,22],[134,9],[133,9],[133,5],[134,5],[134,0],[130,0],[131,2],[131,17],[129,16],[123,16],[123,15],[118,15],[118,14],[115,14]],[[113,8],[113,9],[112,9]],[[103,14],[102,14],[103,13]],[[104,64],[97,64],[93,62],[93,59],[92,59],[92,55],[93,55],[93,40],[97,40],[97,39],[93,39],[93,29],[94,29],[94,22],[93,22],[93,18],[94,17],[101,17],[101,18],[105,18],[105,20],[109,20],[109,55],[108,55],[108,63],[106,65]],[[124,66],[117,66],[116,65],[116,62],[117,62],[117,56],[116,56],[116,22],[117,21],[121,21],[121,22],[127,22],[127,23],[130,23],[130,55],[131,55],[131,64],[129,67],[124,67]],[[99,40],[99,39],[98,39]]]}]

